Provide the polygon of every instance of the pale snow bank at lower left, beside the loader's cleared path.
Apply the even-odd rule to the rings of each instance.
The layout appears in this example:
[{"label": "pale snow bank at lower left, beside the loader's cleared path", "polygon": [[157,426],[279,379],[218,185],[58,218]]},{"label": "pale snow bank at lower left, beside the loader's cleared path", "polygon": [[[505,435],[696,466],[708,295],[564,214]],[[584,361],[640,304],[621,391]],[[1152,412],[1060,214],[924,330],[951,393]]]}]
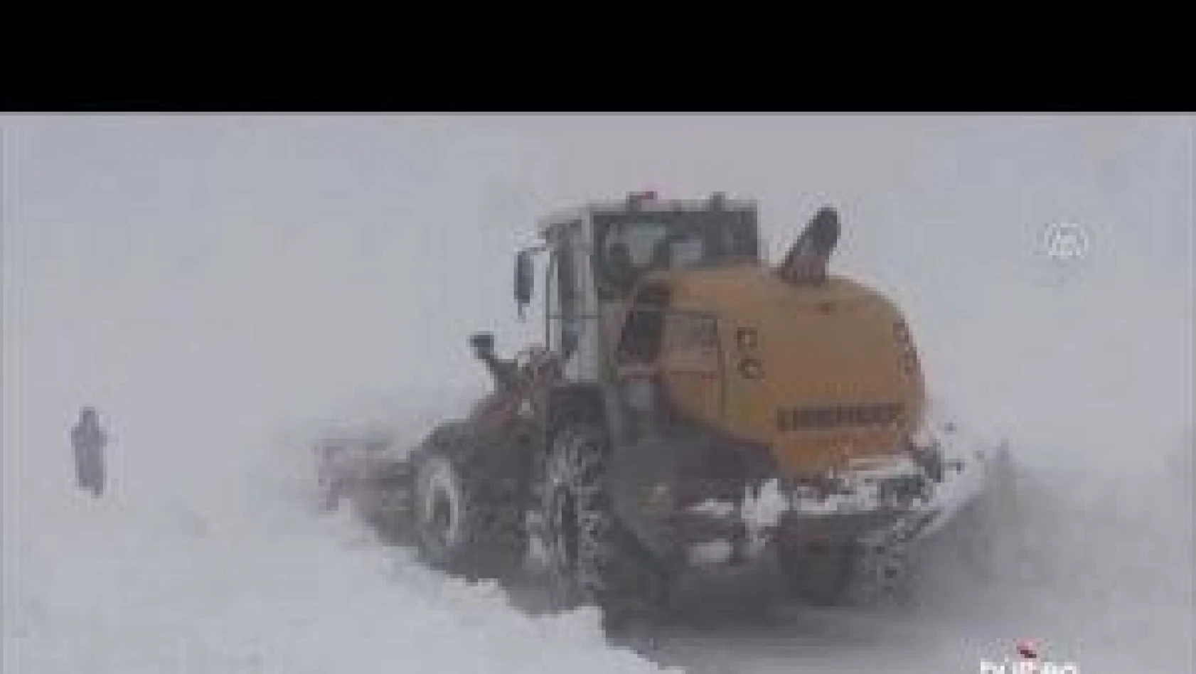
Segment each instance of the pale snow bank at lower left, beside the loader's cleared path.
[{"label": "pale snow bank at lower left, beside the loader's cleared path", "polygon": [[118,440],[99,501],[68,489],[60,445],[10,454],[5,672],[658,670],[590,612],[524,615],[383,549],[348,510],[321,514],[294,448],[240,446],[213,470],[232,454],[218,435],[169,461]]}]

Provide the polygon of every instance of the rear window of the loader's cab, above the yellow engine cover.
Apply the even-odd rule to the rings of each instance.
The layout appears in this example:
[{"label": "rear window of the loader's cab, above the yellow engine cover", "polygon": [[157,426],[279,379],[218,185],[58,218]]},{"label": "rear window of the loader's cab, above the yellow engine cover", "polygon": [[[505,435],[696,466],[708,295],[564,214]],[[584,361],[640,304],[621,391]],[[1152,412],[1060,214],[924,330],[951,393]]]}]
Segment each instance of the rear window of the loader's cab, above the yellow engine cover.
[{"label": "rear window of the loader's cab, above the yellow engine cover", "polygon": [[753,212],[594,214],[604,299],[622,295],[658,269],[718,266],[758,259]]}]

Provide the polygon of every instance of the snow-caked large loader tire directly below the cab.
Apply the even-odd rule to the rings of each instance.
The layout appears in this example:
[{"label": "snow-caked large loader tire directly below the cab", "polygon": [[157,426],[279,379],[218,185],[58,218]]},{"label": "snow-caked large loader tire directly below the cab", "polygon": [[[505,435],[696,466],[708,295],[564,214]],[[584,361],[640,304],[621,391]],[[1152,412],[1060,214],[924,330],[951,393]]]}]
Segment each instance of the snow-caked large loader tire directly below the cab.
[{"label": "snow-caked large loader tire directly below the cab", "polygon": [[620,522],[608,484],[605,434],[592,425],[559,433],[545,458],[541,517],[557,608],[597,605],[609,626],[666,601],[666,576]]}]

